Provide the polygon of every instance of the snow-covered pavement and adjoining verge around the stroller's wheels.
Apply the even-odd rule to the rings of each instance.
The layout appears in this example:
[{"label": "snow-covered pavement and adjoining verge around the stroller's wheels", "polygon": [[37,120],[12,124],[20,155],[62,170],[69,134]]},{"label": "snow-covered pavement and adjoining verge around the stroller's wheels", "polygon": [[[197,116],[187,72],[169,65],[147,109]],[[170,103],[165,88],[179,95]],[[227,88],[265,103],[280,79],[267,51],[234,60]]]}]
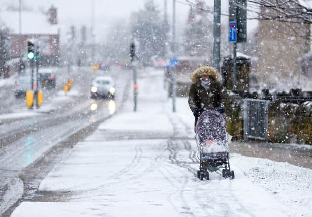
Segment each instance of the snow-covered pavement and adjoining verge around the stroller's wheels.
[{"label": "snow-covered pavement and adjoining verge around the stroller's wheels", "polygon": [[[170,100],[162,72],[143,72],[138,112],[130,97],[43,179],[12,216],[309,216],[312,170],[232,154],[235,179],[196,177],[187,100]],[[49,195],[53,197],[49,198]]]}]

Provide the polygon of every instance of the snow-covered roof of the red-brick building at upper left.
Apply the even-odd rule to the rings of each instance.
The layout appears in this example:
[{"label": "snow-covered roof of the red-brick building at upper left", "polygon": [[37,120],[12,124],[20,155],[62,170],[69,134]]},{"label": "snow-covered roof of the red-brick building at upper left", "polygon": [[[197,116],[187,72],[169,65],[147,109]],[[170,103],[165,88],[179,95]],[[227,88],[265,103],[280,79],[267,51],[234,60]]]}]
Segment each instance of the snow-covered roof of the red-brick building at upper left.
[{"label": "snow-covered roof of the red-brick building at upper left", "polygon": [[[0,11],[0,22],[4,23],[12,34],[19,34],[18,11]],[[22,34],[46,34],[57,35],[58,25],[51,25],[48,15],[36,11],[22,11],[21,13]]]}]

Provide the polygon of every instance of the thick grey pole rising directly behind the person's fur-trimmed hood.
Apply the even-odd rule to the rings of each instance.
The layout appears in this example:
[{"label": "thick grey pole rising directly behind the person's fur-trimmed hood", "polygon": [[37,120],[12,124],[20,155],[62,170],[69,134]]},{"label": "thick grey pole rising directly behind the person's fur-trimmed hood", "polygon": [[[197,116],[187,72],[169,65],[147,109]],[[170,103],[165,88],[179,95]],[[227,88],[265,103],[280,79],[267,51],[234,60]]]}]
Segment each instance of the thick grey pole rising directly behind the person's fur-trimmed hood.
[{"label": "thick grey pole rising directly behind the person's fur-trimmed hood", "polygon": [[213,67],[220,73],[220,18],[221,0],[214,0],[213,13]]}]

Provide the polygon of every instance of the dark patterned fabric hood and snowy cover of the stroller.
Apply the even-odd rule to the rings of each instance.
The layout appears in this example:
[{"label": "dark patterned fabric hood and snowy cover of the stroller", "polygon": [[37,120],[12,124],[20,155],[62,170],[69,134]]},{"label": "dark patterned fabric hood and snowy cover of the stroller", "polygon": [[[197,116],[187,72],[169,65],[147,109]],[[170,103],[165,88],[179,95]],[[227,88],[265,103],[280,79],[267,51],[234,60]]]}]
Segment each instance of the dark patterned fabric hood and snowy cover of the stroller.
[{"label": "dark patterned fabric hood and snowy cover of the stroller", "polygon": [[229,153],[225,120],[219,112],[213,109],[204,111],[198,118],[195,131],[201,156],[203,154],[216,156],[217,153]]}]

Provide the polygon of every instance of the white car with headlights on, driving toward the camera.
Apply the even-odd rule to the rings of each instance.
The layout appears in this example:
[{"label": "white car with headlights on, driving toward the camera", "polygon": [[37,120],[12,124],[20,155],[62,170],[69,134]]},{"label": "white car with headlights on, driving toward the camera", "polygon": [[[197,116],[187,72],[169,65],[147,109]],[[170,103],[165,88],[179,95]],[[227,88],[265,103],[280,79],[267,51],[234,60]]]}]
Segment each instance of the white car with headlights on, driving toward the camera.
[{"label": "white car with headlights on, driving toward the camera", "polygon": [[91,98],[114,98],[115,85],[112,77],[98,76],[91,85]]}]

